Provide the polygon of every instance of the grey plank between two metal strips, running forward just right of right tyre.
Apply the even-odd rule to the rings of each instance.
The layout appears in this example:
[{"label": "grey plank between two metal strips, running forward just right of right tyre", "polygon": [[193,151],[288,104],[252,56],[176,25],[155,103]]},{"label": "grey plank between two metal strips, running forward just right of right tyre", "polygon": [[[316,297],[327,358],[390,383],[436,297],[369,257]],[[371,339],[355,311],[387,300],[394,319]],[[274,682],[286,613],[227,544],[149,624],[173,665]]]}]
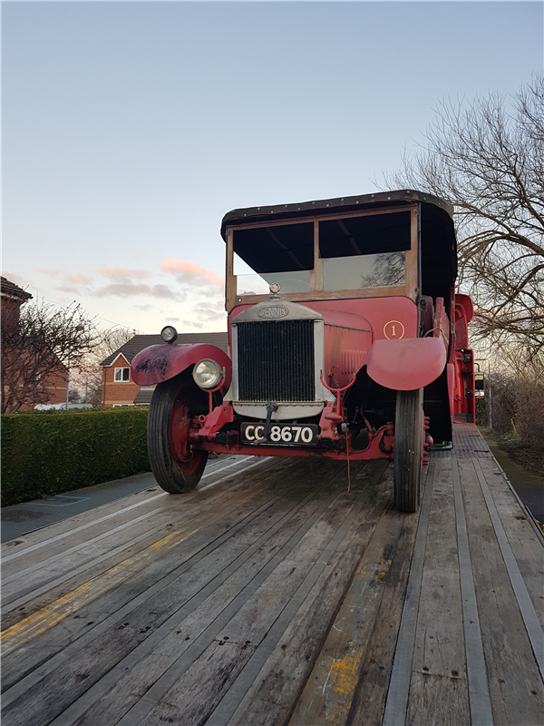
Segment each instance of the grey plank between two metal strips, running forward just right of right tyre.
[{"label": "grey plank between two metal strips, running forward just right of right tyre", "polygon": [[406,712],[418,726],[471,721],[451,462],[437,460],[432,488]]}]

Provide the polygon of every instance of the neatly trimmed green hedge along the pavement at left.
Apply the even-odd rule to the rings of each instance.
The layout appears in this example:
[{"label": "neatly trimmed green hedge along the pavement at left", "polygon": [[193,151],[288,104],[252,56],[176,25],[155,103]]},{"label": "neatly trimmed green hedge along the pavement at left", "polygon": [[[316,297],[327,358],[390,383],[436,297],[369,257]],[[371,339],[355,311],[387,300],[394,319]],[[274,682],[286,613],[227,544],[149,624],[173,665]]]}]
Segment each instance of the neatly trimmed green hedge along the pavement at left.
[{"label": "neatly trimmed green hedge along the pavement at left", "polygon": [[150,471],[147,407],[0,416],[0,506]]}]

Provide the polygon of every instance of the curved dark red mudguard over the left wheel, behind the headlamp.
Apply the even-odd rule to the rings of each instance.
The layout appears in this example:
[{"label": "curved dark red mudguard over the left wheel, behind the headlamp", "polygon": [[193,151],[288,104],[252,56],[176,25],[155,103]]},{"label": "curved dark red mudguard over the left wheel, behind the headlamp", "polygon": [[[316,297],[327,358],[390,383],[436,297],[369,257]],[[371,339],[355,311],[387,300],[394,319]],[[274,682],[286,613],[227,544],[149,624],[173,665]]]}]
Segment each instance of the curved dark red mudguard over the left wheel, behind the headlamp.
[{"label": "curved dark red mudguard over the left wheel, behind the headlamp", "polygon": [[221,368],[225,368],[225,383],[221,388],[228,390],[232,378],[232,361],[221,348],[204,344],[178,346],[164,343],[144,348],[132,359],[132,380],[139,386],[162,383],[189,366],[194,366],[202,358],[212,358]]}]

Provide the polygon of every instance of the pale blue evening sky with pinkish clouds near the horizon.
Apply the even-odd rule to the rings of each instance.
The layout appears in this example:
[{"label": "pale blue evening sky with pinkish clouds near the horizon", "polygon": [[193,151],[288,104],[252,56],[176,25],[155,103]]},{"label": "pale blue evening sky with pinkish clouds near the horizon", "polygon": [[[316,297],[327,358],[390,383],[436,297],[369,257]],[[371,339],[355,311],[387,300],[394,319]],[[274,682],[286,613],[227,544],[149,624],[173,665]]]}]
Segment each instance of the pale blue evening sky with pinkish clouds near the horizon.
[{"label": "pale blue evening sky with pinkish clouds near the horizon", "polygon": [[542,0],[2,0],[1,274],[102,329],[226,329],[232,209],[375,191],[443,100],[543,65]]}]

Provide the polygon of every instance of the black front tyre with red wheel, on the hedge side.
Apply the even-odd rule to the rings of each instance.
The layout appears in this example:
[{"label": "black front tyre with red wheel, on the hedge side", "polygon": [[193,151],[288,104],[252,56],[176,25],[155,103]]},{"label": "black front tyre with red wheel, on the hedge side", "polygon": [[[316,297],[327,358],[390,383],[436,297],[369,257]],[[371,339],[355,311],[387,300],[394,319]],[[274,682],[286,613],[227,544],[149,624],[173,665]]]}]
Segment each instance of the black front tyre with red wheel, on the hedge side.
[{"label": "black front tyre with red wheel, on the hedge side", "polygon": [[148,455],[157,483],[169,494],[194,489],[204,472],[208,452],[189,444],[190,422],[200,413],[207,413],[206,398],[192,378],[180,374],[155,388],[148,415]]}]

